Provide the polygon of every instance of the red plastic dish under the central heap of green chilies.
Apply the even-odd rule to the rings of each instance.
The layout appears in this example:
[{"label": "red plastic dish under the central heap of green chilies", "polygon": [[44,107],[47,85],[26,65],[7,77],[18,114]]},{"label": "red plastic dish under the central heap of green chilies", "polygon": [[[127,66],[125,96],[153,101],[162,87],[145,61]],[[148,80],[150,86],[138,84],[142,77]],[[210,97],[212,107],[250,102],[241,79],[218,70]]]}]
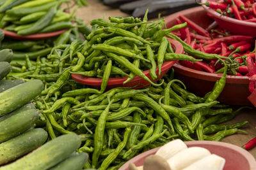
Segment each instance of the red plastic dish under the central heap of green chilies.
[{"label": "red plastic dish under the central heap of green chilies", "polygon": [[[175,53],[183,53],[184,52],[183,46],[179,43],[179,41],[176,41],[174,39],[169,39],[169,40],[170,40],[170,43],[172,44],[172,46],[175,48]],[[161,71],[162,71],[161,75],[156,80],[154,80],[154,82],[163,78],[163,76],[168,72],[170,67],[172,67],[173,64],[175,64],[176,62],[177,62],[177,60],[164,62],[163,66],[161,68]],[[150,78],[149,70],[143,71],[143,73],[148,78]],[[156,68],[156,73],[158,73],[158,67]],[[85,76],[82,76],[79,74],[71,74],[71,76],[74,80],[76,80],[79,83],[91,85],[92,87],[94,87],[96,89],[100,89],[102,78],[88,78],[88,77],[85,77]],[[143,78],[140,78],[139,76],[135,76],[133,80],[123,84],[127,78],[128,78],[127,76],[125,76],[124,78],[109,78],[107,89],[112,89],[115,87],[132,87],[133,89],[140,89],[142,87],[146,87],[146,86],[150,85],[150,83],[148,81],[144,80]],[[150,80],[152,80],[152,79],[150,78]]]}]

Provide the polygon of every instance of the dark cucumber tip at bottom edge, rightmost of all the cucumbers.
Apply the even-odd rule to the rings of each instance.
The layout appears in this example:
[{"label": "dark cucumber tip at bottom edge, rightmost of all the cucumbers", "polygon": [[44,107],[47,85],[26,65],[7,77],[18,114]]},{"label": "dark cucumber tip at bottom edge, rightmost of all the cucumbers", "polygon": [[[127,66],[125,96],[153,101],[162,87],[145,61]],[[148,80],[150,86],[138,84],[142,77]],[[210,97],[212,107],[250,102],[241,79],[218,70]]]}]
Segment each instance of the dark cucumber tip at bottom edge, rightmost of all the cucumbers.
[{"label": "dark cucumber tip at bottom edge, rightmost of all the cucumbers", "polygon": [[81,170],[88,160],[87,153],[72,153],[67,159],[63,160],[49,170]]}]

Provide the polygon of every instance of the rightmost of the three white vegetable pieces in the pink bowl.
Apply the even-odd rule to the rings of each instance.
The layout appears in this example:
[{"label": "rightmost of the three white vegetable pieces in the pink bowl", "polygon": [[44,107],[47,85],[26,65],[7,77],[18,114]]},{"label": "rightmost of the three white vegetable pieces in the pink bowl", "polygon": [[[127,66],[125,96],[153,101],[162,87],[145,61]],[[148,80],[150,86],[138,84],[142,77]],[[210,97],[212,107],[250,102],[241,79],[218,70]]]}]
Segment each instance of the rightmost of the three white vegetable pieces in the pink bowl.
[{"label": "rightmost of the three white vegetable pieces in the pink bowl", "polygon": [[223,157],[212,154],[196,161],[190,166],[184,168],[183,170],[222,170],[224,165],[225,159],[223,159]]}]

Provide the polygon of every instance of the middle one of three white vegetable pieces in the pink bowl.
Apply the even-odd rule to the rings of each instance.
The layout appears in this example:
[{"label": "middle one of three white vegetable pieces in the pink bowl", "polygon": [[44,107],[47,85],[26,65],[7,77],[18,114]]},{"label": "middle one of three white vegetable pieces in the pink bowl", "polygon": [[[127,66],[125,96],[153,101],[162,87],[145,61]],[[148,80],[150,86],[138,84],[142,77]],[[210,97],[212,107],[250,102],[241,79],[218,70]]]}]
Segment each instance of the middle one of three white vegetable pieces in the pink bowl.
[{"label": "middle one of three white vegetable pieces in the pink bowl", "polygon": [[208,155],[211,153],[205,148],[191,147],[176,153],[167,162],[172,170],[181,170]]}]

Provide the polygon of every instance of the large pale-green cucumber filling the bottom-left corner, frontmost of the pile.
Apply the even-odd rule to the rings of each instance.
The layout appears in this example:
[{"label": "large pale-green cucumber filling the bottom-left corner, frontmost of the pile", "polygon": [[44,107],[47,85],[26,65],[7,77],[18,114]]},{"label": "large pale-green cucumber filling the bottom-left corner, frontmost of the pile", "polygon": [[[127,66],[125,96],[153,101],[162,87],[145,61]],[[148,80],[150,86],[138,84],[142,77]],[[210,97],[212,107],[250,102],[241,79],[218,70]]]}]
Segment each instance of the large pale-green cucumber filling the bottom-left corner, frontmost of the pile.
[{"label": "large pale-green cucumber filling the bottom-left corner, frontmost of the pile", "polygon": [[67,159],[80,145],[81,138],[77,134],[64,134],[45,143],[12,164],[0,167],[0,170],[46,170]]}]

